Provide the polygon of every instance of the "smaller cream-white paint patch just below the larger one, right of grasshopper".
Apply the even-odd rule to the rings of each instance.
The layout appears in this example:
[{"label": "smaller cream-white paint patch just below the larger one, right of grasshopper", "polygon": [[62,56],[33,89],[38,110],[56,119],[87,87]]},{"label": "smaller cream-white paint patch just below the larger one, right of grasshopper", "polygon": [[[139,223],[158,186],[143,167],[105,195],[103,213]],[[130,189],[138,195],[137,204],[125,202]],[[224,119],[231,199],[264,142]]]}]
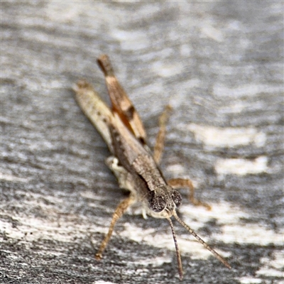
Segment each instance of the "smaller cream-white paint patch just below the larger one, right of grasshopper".
[{"label": "smaller cream-white paint patch just below the larger one, right of grasshopper", "polygon": [[214,168],[218,175],[249,175],[266,173],[268,171],[268,158],[266,156],[258,157],[254,160],[219,159]]}]

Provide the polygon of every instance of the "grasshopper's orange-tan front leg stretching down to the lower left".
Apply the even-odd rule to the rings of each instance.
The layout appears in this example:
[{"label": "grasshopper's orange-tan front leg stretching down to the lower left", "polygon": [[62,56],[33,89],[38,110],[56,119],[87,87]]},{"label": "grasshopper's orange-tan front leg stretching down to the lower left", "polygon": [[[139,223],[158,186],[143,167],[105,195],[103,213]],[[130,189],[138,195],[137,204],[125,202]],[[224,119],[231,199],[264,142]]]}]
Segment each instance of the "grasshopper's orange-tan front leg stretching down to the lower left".
[{"label": "grasshopper's orange-tan front leg stretching down to the lower left", "polygon": [[119,203],[119,206],[116,207],[114,214],[112,215],[111,224],[109,226],[109,232],[107,236],[104,237],[101,246],[99,247],[99,251],[96,253],[95,258],[97,260],[102,258],[102,253],[104,249],[106,249],[107,244],[109,243],[109,239],[111,238],[112,231],[114,231],[114,225],[116,224],[117,220],[126,212],[126,209],[135,201],[133,195],[129,195],[125,200],[122,200]]}]

